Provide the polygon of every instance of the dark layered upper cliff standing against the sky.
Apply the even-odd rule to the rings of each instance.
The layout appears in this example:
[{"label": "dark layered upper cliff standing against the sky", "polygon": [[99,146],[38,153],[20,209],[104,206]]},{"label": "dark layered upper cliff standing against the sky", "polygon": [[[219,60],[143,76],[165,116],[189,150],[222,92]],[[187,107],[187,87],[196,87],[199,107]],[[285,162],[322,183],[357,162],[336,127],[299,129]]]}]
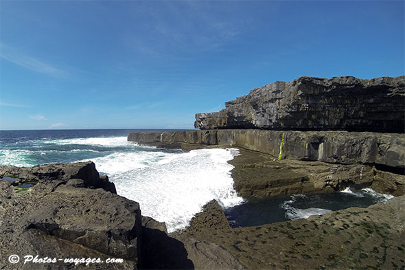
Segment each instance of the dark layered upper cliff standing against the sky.
[{"label": "dark layered upper cliff standing against the sky", "polygon": [[194,126],[404,133],[405,76],[300,77],[253,89],[225,104],[218,113],[197,113]]}]

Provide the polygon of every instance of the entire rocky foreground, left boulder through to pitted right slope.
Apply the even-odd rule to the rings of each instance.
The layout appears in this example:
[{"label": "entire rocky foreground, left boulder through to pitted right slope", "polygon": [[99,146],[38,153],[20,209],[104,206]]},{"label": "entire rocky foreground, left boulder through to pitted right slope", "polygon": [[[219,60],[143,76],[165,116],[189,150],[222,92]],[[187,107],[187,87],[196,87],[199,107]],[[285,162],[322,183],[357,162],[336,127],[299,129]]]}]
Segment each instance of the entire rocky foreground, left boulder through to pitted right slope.
[{"label": "entire rocky foreground, left boulder through to pitted right slope", "polygon": [[[405,196],[231,229],[211,201],[183,232],[141,216],[91,162],[0,167],[0,269],[404,269]],[[27,187],[30,186],[30,187]],[[11,264],[12,254],[104,263]],[[106,265],[108,258],[122,262]]]}]

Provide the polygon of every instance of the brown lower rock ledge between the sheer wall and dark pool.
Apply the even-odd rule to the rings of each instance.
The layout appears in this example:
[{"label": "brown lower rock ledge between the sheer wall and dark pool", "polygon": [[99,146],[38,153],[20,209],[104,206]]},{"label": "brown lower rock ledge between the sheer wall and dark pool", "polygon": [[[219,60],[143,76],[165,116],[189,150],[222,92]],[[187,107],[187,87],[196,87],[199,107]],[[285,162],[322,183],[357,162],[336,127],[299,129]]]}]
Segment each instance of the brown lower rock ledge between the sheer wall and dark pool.
[{"label": "brown lower rock ledge between the sheer wall and dark pool", "polygon": [[233,186],[244,198],[282,194],[330,193],[345,188],[373,188],[384,194],[405,194],[405,175],[382,172],[365,164],[328,164],[320,161],[274,159],[240,150],[230,164]]}]

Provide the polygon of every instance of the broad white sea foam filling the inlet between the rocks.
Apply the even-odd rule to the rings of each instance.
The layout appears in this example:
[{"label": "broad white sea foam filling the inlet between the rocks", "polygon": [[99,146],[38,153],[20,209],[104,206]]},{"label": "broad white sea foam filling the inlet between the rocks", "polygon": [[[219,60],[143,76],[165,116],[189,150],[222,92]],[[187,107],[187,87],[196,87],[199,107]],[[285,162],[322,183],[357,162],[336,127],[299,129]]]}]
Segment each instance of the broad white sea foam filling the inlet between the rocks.
[{"label": "broad white sea foam filling the inlet between the rocks", "polygon": [[167,230],[187,227],[211,199],[223,207],[242,203],[233,189],[227,161],[237,149],[201,149],[189,153],[137,151],[93,159],[97,170],[115,183],[117,193],[138,201],[142,214],[164,221]]}]

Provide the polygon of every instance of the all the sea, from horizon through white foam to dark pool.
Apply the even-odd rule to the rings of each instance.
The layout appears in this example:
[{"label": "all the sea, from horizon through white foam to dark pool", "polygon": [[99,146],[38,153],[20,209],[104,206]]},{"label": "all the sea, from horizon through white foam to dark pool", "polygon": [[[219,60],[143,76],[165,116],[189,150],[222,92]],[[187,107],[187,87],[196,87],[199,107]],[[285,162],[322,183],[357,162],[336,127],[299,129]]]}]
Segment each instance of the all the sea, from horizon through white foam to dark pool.
[{"label": "all the sea, from horizon through white foam to dark pool", "polygon": [[168,232],[187,227],[211,199],[220,203],[232,227],[244,227],[367,207],[390,198],[366,189],[244,200],[233,188],[233,166],[227,163],[239,155],[238,149],[185,153],[127,142],[135,131],[152,130],[0,131],[0,165],[91,160],[101,175],[115,183],[117,194],[139,202],[142,214],[165,222]]}]

